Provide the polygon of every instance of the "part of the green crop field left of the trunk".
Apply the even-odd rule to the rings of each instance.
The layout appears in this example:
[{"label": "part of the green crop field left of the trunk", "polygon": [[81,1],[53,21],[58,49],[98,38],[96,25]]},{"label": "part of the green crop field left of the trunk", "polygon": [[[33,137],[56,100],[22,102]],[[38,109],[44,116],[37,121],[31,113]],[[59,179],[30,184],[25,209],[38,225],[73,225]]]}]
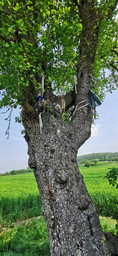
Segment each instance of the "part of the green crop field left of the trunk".
[{"label": "part of the green crop field left of the trunk", "polygon": [[0,177],[0,194],[1,220],[41,215],[41,198],[33,173]]}]

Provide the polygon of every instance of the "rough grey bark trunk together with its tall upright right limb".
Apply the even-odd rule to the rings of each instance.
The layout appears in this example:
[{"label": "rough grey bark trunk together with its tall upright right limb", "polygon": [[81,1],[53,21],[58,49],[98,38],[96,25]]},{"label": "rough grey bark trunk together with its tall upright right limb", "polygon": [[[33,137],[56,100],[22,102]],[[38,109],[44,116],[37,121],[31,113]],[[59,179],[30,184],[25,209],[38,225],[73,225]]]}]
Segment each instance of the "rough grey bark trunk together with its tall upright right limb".
[{"label": "rough grey bark trunk together with its tall upright right limb", "polygon": [[61,98],[50,89],[44,99],[52,110],[45,109],[42,113],[42,134],[39,114],[33,107],[22,111],[22,122],[28,142],[29,166],[34,170],[41,195],[51,256],[115,256],[118,254],[107,245],[108,236],[105,238],[101,229],[76,161],[79,147],[90,137],[92,110],[89,105],[83,105],[90,101],[89,73],[94,64],[100,26],[94,1],[80,3],[84,28],[77,64],[77,94],[74,89],[65,95],[65,110],[71,106],[76,109],[78,104],[81,108],[70,124],[64,122]]}]

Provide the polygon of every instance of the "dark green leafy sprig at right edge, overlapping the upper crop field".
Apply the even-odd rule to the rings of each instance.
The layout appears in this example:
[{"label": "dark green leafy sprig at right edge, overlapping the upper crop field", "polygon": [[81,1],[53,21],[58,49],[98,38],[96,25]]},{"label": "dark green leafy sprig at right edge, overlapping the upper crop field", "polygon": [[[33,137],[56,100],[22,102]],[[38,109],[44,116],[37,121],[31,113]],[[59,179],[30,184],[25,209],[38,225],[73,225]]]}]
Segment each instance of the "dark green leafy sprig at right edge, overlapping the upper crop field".
[{"label": "dark green leafy sprig at right edge, overlapping the upper crop field", "polygon": [[118,168],[112,167],[108,169],[110,169],[110,171],[107,173],[104,179],[108,179],[109,185],[112,184],[113,187],[116,186],[116,188],[118,188],[118,183],[117,183]]}]

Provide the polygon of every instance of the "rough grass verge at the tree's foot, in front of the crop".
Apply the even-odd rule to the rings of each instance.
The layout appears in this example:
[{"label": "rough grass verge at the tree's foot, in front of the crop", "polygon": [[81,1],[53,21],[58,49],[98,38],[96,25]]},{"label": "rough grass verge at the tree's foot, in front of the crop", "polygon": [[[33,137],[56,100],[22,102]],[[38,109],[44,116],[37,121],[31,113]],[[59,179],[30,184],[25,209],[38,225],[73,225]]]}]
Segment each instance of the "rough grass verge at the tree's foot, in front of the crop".
[{"label": "rough grass verge at the tree's foot, in front of the crop", "polygon": [[[116,220],[100,216],[105,232],[115,233]],[[12,228],[2,228],[0,256],[50,256],[46,222],[43,217],[17,223]]]}]

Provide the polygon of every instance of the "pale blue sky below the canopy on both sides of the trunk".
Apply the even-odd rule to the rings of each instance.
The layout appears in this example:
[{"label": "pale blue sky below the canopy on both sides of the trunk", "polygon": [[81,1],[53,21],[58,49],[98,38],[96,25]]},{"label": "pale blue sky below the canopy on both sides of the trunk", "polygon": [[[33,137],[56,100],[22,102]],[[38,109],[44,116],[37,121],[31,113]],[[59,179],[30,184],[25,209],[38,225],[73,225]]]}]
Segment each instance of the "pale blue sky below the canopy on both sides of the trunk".
[{"label": "pale blue sky below the canopy on both sides of the trunk", "polygon": [[[91,137],[81,146],[77,155],[96,152],[118,152],[118,91],[107,93],[106,99],[97,107],[99,119],[95,120]],[[3,112],[3,109],[2,111]],[[5,132],[8,122],[6,114],[0,114],[0,172],[28,167],[28,147],[21,135],[23,126],[15,123],[18,109],[13,109],[9,139]]]}]

